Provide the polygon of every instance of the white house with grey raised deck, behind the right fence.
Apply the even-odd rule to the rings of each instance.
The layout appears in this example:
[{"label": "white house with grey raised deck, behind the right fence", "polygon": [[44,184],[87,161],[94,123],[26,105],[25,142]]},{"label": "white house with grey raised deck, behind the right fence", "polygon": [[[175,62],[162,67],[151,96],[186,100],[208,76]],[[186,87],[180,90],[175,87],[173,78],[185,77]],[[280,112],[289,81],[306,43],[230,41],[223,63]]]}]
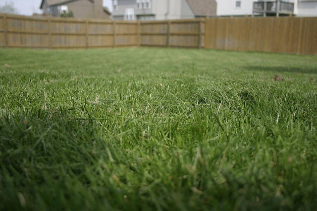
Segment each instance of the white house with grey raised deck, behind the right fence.
[{"label": "white house with grey raised deck, behind the right fence", "polygon": [[317,0],[218,0],[217,16],[317,16]]}]

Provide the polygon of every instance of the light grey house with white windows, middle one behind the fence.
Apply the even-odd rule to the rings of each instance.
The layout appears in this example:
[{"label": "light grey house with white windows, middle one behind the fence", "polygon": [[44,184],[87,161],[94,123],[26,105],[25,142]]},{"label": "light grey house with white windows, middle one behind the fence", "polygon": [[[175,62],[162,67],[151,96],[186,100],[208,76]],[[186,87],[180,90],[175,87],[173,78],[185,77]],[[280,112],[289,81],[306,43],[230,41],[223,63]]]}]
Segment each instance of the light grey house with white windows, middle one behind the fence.
[{"label": "light grey house with white windows, middle one behind the fence", "polygon": [[215,15],[215,0],[112,0],[112,18],[115,20],[187,19]]}]

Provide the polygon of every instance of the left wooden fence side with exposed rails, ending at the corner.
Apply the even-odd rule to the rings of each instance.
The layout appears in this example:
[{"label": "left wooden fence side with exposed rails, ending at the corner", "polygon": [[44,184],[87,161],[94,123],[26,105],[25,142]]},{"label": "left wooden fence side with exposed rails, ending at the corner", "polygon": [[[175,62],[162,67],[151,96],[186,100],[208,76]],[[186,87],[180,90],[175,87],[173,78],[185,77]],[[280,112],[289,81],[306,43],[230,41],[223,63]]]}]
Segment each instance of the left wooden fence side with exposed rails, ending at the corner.
[{"label": "left wooden fence side with exposed rails, ending at the corner", "polygon": [[96,48],[138,45],[138,23],[0,15],[0,46]]}]

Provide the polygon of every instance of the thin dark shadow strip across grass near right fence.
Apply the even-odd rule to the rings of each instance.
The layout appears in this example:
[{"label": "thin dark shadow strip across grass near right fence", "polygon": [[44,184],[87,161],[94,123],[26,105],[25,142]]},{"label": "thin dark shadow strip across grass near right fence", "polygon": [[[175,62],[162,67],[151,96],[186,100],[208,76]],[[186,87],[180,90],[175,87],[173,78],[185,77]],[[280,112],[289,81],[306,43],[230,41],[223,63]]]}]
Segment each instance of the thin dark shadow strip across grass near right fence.
[{"label": "thin dark shadow strip across grass near right fence", "polygon": [[266,67],[266,66],[246,66],[247,70],[252,71],[269,71],[269,72],[290,72],[290,73],[315,73],[317,74],[317,68],[305,68],[305,67]]}]

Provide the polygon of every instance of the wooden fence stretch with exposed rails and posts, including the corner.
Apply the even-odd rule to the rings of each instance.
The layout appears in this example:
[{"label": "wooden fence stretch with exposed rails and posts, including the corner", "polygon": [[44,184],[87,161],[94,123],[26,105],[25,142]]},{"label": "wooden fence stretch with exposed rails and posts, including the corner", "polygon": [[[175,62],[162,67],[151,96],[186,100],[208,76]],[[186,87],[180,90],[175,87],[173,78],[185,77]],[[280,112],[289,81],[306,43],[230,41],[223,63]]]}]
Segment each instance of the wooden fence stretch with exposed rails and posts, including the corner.
[{"label": "wooden fence stretch with exposed rails and posts, including the corner", "polygon": [[205,20],[111,21],[0,14],[0,47],[204,46]]}]

